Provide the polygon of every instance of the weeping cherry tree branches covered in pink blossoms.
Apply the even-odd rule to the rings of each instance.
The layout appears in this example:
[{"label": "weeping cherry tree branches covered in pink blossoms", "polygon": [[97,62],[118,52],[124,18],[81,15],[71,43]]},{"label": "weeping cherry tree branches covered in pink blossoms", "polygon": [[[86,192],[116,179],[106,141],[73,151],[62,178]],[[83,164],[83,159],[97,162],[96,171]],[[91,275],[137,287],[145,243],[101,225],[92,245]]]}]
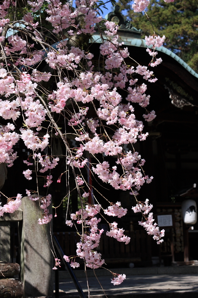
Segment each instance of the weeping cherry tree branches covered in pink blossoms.
[{"label": "weeping cherry tree branches covered in pink blossoms", "polygon": [[[117,35],[118,25],[99,15],[97,1],[76,0],[75,4],[76,8],[72,2],[59,0],[5,0],[0,5],[0,116],[7,123],[1,125],[0,162],[8,167],[13,165],[17,158],[13,146],[21,138],[31,152],[24,161],[27,165],[24,176],[28,180],[32,175],[37,181],[41,176],[45,179],[45,196],[40,196],[38,182],[34,190],[26,190],[29,199],[38,201],[42,210],[42,216],[35,224],[48,224],[52,219],[50,185],[56,183],[52,181],[51,170],[59,162],[51,145],[53,136],[59,136],[65,146],[66,165],[57,183],[61,182],[62,175],[66,175],[65,189],[69,200],[69,173],[72,172],[81,202],[76,213],[67,212],[66,216],[68,226],[79,226],[81,241],[77,243],[76,256],[64,258],[73,268],[79,266],[77,260],[81,258],[85,268],[96,269],[105,262],[96,250],[103,233],[103,229],[98,229],[101,216],[109,224],[106,235],[127,245],[130,238],[125,231],[116,221],[108,219],[109,216],[121,218],[127,209],[121,207],[119,201],[110,202],[107,198],[109,207],[104,209],[94,195],[95,192],[100,194],[99,188],[93,190],[84,169],[89,176],[98,177],[102,185],[130,190],[137,201],[133,211],[142,213],[139,224],[158,244],[163,241],[164,230],[159,230],[150,212],[153,206],[148,199],[144,202],[137,199],[142,185],[150,183],[153,177],[144,173],[145,160],[133,147],[148,135],[143,133],[143,121],[152,121],[156,117],[155,111],[147,110],[150,96],[146,94],[146,82],[139,83],[138,80],[142,76],[144,81],[155,83],[157,78],[148,66],[126,64],[126,58],[134,57],[130,57]],[[142,11],[148,4],[149,0],[137,0],[133,9]],[[89,51],[89,39],[95,30],[102,39],[100,59],[103,59],[103,69],[97,68],[99,62],[95,64],[94,54]],[[146,37],[146,44],[151,46],[147,49],[152,56],[151,67],[162,61],[156,58],[155,47],[162,46],[164,39],[165,36],[161,38],[155,32]],[[148,54],[145,52],[145,55]],[[127,92],[125,98],[121,96],[122,89]],[[143,119],[136,119],[134,103],[143,108]],[[17,133],[15,121],[18,118],[21,128]],[[58,125],[60,118],[65,123],[63,128]],[[70,144],[71,136],[76,141],[75,148]],[[125,144],[130,144],[132,149],[125,152]],[[113,165],[106,160],[109,156],[114,156]],[[88,200],[90,194],[94,202]],[[15,198],[7,197],[7,204],[0,207],[0,216],[17,210],[21,197],[21,194]],[[55,252],[54,259],[53,269],[56,270],[60,263]],[[111,283],[114,285],[126,278],[125,274],[113,273],[113,276]]]}]

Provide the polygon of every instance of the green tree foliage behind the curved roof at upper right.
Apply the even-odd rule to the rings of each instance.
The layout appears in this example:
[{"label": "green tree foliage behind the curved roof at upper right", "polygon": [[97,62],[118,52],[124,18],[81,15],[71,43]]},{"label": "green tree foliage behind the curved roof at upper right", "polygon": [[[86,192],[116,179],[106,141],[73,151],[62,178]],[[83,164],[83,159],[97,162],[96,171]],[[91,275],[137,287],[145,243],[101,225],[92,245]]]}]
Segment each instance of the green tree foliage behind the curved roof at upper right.
[{"label": "green tree foliage behind the curved roof at upper right", "polygon": [[[146,13],[155,33],[160,36],[164,34],[164,45],[198,72],[198,0],[175,0],[169,4],[163,0],[150,2]],[[128,0],[120,0],[119,5],[133,26],[143,30],[142,38],[153,35],[152,26],[144,12],[134,13]]]}]

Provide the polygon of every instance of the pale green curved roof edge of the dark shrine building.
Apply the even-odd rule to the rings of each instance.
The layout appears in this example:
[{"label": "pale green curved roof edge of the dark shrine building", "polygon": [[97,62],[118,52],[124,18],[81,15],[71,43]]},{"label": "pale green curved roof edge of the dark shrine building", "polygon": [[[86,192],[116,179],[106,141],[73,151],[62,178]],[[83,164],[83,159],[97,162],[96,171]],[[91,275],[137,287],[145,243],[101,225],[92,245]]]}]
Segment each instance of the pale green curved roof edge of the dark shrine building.
[{"label": "pale green curved roof edge of the dark shrine building", "polygon": [[[152,48],[152,46],[147,46],[144,39],[141,38],[134,38],[134,37],[127,37],[127,36],[120,36],[120,39],[124,41],[124,44],[126,46],[139,46],[143,48]],[[92,41],[98,44],[102,43],[101,38],[98,34],[92,35]],[[169,55],[173,59],[175,59],[178,63],[180,63],[188,72],[190,72],[191,75],[194,75],[194,77],[198,78],[198,74],[191,69],[190,66],[186,62],[184,62],[181,58],[179,58],[175,53],[171,52],[169,49],[165,48],[164,46],[161,46],[160,48],[156,48],[157,51],[163,52],[166,55]]]}]

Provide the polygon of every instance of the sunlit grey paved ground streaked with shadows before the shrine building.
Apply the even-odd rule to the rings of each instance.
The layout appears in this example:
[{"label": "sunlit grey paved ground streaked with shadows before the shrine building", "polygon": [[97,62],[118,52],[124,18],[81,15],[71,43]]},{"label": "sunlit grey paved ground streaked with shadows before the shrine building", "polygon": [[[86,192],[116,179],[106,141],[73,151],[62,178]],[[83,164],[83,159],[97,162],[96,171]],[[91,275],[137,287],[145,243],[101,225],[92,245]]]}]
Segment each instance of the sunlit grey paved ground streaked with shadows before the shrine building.
[{"label": "sunlit grey paved ground streaked with shadows before the shrine building", "polygon": [[[198,298],[197,274],[158,274],[158,275],[128,275],[121,285],[114,286],[109,276],[98,277],[108,298],[111,297],[168,297],[168,298]],[[92,298],[103,298],[104,293],[95,277],[89,277]],[[78,278],[87,296],[87,282],[83,277]],[[71,279],[59,278],[60,297],[79,297]]]}]

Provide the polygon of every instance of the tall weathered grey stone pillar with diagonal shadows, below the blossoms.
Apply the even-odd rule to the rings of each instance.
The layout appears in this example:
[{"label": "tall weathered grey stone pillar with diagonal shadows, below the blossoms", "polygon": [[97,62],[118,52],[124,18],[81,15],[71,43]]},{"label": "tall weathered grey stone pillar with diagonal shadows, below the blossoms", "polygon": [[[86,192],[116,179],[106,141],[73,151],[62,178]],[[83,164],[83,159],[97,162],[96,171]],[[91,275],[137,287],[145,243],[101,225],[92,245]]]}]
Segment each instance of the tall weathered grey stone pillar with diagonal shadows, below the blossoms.
[{"label": "tall weathered grey stone pillar with diagonal shadows, below the blossoms", "polygon": [[38,201],[23,197],[21,209],[21,280],[24,297],[52,296],[54,260],[50,250],[50,225],[38,224],[38,218],[41,218]]}]

